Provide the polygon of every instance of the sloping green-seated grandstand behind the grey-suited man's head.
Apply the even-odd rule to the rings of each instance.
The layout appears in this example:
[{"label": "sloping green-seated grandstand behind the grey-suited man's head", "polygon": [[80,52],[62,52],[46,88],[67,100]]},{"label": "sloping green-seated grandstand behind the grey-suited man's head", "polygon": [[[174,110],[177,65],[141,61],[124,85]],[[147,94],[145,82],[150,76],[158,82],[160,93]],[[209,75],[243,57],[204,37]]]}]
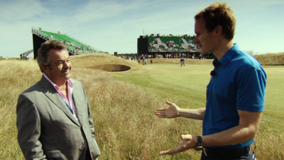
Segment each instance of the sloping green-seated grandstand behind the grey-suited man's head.
[{"label": "sloping green-seated grandstand behind the grey-suited man's head", "polygon": [[[45,41],[57,40],[64,42],[68,48],[69,55],[78,55],[84,53],[99,53],[98,50],[95,50],[91,46],[88,46],[81,41],[76,40],[67,34],[62,34],[60,32],[50,32],[43,31],[42,28],[32,28],[33,33],[33,50],[38,50],[40,48],[41,43]],[[35,59],[38,56],[37,51],[33,52],[33,58]]]}]

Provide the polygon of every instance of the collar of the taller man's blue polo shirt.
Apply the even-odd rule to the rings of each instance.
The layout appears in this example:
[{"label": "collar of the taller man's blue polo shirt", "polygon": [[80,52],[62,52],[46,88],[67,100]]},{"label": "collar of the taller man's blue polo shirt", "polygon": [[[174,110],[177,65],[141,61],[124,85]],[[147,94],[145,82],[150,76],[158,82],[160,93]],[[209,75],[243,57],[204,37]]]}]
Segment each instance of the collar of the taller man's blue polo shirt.
[{"label": "collar of the taller man's blue polo shirt", "polygon": [[214,58],[213,65],[216,66],[217,63],[222,63],[222,65],[224,66],[228,65],[234,55],[239,52],[239,50],[239,45],[237,43],[234,43],[234,46],[223,55],[220,61],[218,61],[216,57]]}]

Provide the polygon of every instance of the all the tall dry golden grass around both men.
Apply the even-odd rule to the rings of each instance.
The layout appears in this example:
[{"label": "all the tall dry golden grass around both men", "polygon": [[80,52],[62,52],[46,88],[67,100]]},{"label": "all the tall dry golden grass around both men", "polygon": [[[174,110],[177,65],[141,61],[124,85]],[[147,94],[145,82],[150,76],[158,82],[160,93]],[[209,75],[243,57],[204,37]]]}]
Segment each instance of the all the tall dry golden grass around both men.
[{"label": "all the tall dry golden grass around both men", "polygon": [[[141,65],[110,55],[80,55],[72,57],[71,62],[72,78],[84,84],[89,98],[100,159],[200,159],[200,152],[193,149],[174,156],[158,153],[180,144],[180,134],[202,134],[201,121],[159,119],[154,112],[166,107],[164,98],[114,80],[104,71],[86,68],[111,62],[131,65],[131,70],[137,71],[143,70]],[[16,100],[41,75],[33,60],[0,60],[0,159],[23,159],[16,140]],[[258,159],[284,159],[283,141],[283,131],[261,127],[256,138]]]}]

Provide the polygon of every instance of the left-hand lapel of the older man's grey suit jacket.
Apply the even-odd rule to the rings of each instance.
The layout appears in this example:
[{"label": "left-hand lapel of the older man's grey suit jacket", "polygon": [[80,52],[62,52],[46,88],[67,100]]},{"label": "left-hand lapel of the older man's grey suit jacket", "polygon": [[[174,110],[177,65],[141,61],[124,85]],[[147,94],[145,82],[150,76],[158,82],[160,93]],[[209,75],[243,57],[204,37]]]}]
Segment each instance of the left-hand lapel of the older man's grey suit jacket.
[{"label": "left-hand lapel of the older man's grey suit jacket", "polygon": [[48,82],[48,80],[46,80],[44,77],[41,78],[40,82],[40,86],[43,88],[43,93],[48,97],[48,99],[51,100],[57,107],[59,107],[60,110],[62,110],[62,112],[67,115],[67,117],[75,122],[75,124],[80,126],[80,123],[75,119],[75,117],[73,117],[69,108],[65,104],[64,100],[62,100],[58,92],[56,92],[53,85],[51,85],[50,82]]}]

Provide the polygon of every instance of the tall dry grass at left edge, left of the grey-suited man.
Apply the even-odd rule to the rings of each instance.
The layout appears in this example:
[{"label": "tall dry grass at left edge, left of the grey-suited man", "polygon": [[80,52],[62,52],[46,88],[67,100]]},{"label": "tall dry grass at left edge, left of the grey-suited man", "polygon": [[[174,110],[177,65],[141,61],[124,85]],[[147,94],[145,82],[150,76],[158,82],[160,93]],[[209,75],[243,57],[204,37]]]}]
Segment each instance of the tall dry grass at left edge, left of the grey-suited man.
[{"label": "tall dry grass at left edge, left of the grey-suited man", "polygon": [[23,159],[17,142],[16,100],[40,76],[33,61],[0,60],[0,159]]}]

